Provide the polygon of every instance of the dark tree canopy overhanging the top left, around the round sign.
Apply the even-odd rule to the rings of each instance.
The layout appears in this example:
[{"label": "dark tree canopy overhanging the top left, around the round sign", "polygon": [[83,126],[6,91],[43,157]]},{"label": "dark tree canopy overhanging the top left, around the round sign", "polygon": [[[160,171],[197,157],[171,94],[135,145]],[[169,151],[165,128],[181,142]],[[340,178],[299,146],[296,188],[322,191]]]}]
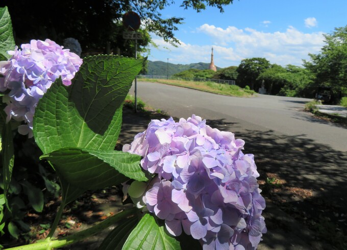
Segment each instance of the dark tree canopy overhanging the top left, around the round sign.
[{"label": "dark tree canopy overhanging the top left, around the round sign", "polygon": [[[232,3],[233,0],[184,0],[181,7],[200,12],[212,6],[223,12],[223,6]],[[111,47],[124,51],[121,17],[129,11],[141,17],[143,33],[153,32],[171,44],[179,43],[174,32],[183,18],[163,18],[161,14],[161,10],[172,4],[174,1],[167,0],[3,0],[0,7],[9,9],[17,44],[34,38],[50,38],[61,43],[64,38],[73,37],[80,41],[83,51],[100,51],[108,41]],[[145,38],[139,40],[142,47],[150,42],[148,35]]]}]

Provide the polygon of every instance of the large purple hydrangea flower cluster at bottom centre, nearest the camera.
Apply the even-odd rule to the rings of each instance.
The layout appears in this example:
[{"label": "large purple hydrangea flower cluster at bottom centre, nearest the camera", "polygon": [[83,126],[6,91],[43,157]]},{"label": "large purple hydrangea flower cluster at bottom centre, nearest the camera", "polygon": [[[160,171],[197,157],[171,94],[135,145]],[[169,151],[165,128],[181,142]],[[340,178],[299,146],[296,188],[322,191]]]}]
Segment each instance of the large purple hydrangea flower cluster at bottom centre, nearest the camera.
[{"label": "large purple hydrangea flower cluster at bottom centre, nearest the camera", "polygon": [[123,151],[141,155],[142,168],[156,174],[142,199],[170,234],[183,229],[204,249],[240,250],[255,249],[266,232],[259,173],[243,145],[192,115],[152,120]]}]

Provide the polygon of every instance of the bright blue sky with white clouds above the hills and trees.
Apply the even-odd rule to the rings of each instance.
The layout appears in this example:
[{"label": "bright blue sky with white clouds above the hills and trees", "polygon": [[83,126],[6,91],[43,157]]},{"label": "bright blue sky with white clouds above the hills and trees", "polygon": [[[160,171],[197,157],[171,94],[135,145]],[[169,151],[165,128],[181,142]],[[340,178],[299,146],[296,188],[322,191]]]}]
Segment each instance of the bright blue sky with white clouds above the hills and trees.
[{"label": "bright blue sky with white clouds above the hills and trees", "polygon": [[244,58],[265,57],[280,65],[302,65],[308,54],[324,45],[323,34],[347,25],[347,0],[234,0],[220,13],[208,7],[196,13],[179,7],[162,11],[163,17],[183,17],[178,47],[152,34],[148,60],[189,64],[210,62],[211,47],[218,67],[237,66]]}]

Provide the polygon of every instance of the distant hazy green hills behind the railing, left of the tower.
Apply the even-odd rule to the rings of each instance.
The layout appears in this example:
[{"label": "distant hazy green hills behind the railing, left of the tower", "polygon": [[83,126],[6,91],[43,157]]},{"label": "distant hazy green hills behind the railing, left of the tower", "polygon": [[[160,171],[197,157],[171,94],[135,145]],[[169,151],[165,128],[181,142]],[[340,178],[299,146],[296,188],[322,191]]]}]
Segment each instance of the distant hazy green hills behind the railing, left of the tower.
[{"label": "distant hazy green hills behind the railing, left of the tower", "polygon": [[[172,76],[172,74],[179,73],[184,70],[191,68],[196,69],[208,69],[209,63],[191,63],[191,64],[173,64],[162,61],[147,61],[147,72],[148,76]],[[217,70],[221,69],[217,67]]]}]

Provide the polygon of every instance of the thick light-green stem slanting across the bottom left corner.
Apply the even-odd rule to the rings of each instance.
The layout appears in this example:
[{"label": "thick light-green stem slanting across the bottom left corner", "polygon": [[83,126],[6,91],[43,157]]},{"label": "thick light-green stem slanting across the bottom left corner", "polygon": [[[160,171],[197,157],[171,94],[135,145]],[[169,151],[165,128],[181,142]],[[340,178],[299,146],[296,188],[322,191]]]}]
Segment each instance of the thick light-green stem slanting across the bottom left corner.
[{"label": "thick light-green stem slanting across the bottom left corner", "polygon": [[137,208],[130,208],[127,210],[123,210],[120,213],[117,213],[104,221],[101,221],[100,223],[97,223],[95,226],[88,228],[86,230],[83,230],[81,232],[78,232],[73,235],[69,235],[66,237],[63,237],[61,239],[57,240],[51,240],[51,238],[46,238],[46,240],[42,242],[37,242],[34,244],[29,245],[22,245],[22,246],[16,246],[7,248],[7,250],[51,250],[54,248],[58,248],[61,246],[69,245],[72,243],[76,243],[79,241],[84,240],[87,237],[90,237],[98,232],[101,232],[102,230],[110,227],[112,224],[117,223],[118,221],[126,218],[126,217],[132,217],[135,215],[135,213],[139,211]]}]

